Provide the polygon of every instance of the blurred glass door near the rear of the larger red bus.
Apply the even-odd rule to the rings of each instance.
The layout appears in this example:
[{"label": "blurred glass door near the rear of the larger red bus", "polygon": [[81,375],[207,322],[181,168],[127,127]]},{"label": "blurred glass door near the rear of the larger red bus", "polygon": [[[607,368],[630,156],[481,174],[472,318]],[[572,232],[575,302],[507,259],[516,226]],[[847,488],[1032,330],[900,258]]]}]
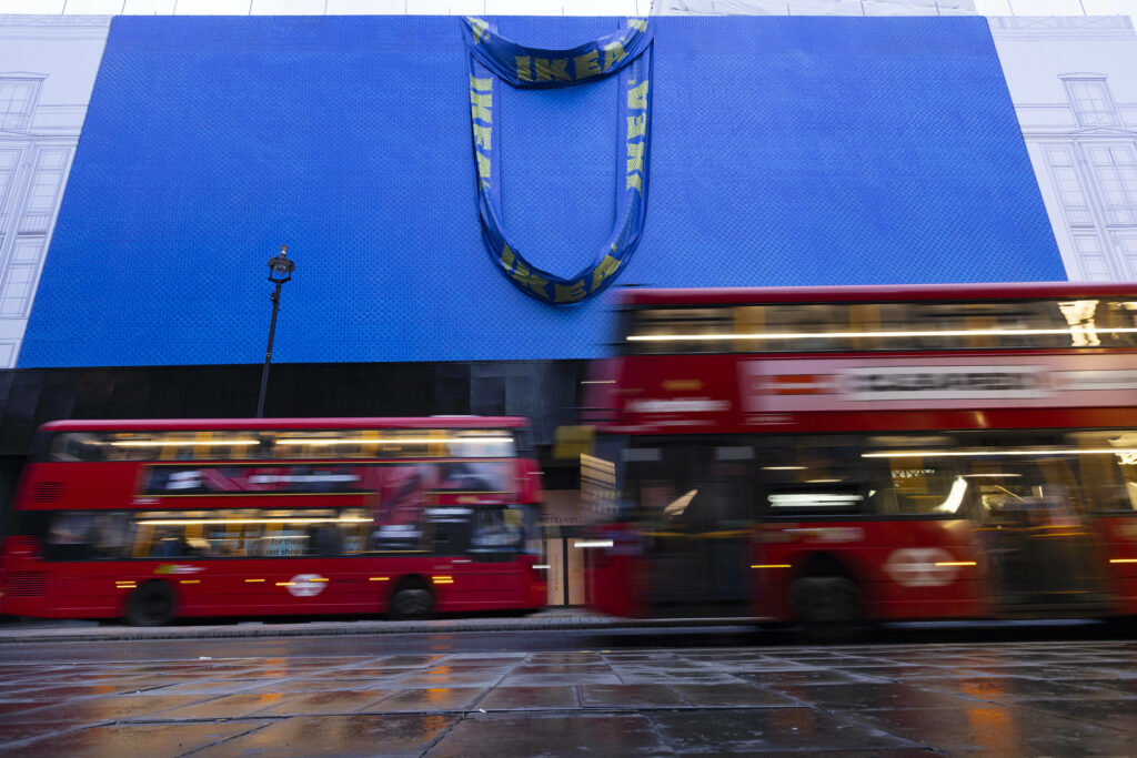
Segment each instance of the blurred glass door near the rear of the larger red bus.
[{"label": "blurred glass door near the rear of the larger red bus", "polygon": [[1104,608],[1098,540],[1067,463],[1054,457],[970,468],[963,477],[996,611]]}]

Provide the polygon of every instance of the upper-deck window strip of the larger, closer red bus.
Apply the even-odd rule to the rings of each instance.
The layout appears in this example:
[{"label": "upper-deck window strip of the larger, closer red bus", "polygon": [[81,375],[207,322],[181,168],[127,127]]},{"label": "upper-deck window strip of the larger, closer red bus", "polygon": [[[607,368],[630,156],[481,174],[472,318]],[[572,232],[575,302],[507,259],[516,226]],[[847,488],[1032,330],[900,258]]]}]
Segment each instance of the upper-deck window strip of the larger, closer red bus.
[{"label": "upper-deck window strip of the larger, closer red bus", "polygon": [[633,308],[623,350],[860,352],[1137,347],[1137,300],[1004,300]]}]

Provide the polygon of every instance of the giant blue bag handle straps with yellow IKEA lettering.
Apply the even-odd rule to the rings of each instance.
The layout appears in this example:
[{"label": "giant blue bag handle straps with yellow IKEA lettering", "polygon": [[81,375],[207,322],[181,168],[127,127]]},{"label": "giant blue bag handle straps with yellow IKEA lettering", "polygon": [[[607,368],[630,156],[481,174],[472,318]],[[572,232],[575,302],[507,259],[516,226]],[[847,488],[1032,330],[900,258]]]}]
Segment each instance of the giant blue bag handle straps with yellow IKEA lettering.
[{"label": "giant blue bag handle straps with yellow IKEA lettering", "polygon": [[[495,264],[525,294],[564,306],[580,302],[611,284],[623,270],[644,230],[647,213],[647,177],[652,123],[653,27],[647,19],[629,19],[628,26],[571,50],[542,50],[515,44],[499,36],[490,24],[466,18],[470,50],[470,122],[478,174],[478,210],[482,241]],[[559,88],[595,82],[624,72],[620,77],[616,176],[623,176],[617,193],[616,222],[599,253],[574,276],[562,277],[530,264],[513,244],[501,223],[500,141],[495,138],[495,80],[518,89]]]}]

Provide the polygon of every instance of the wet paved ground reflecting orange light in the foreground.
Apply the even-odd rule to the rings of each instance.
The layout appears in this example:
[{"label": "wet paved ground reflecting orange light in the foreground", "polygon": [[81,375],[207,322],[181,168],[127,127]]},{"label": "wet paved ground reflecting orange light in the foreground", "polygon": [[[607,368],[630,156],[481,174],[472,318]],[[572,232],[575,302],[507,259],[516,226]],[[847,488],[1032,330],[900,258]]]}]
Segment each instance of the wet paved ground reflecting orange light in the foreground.
[{"label": "wet paved ground reflecting orange light in the foreground", "polygon": [[1137,755],[1137,642],[525,644],[540,634],[0,645],[0,752]]}]

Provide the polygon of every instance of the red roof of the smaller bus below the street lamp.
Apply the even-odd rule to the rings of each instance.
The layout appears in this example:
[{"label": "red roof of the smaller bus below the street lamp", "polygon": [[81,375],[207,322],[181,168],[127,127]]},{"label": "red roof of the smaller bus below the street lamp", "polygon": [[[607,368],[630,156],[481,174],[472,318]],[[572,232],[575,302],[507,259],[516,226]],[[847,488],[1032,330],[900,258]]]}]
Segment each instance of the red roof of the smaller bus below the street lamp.
[{"label": "red roof of the smaller bus below the street lamp", "polygon": [[329,430],[329,428],[520,428],[520,416],[416,416],[393,418],[158,418],[49,422],[45,432],[134,432],[199,430]]}]

